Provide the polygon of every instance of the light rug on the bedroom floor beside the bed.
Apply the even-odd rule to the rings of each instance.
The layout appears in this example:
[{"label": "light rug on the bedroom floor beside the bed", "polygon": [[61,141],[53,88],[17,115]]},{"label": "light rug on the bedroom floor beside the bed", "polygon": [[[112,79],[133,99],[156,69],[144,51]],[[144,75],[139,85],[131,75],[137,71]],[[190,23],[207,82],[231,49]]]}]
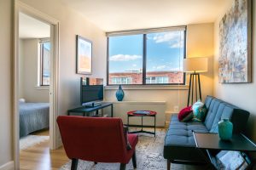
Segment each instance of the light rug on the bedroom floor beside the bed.
[{"label": "light rug on the bedroom floor beside the bed", "polygon": [[49,136],[27,135],[20,139],[20,150],[26,150],[33,145],[49,140]]}]

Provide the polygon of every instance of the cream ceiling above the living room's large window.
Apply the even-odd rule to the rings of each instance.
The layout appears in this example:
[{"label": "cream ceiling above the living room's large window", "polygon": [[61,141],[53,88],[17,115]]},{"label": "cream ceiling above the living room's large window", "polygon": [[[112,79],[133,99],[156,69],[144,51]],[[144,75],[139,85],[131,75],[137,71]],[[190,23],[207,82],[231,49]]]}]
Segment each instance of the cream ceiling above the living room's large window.
[{"label": "cream ceiling above the living room's large window", "polygon": [[103,31],[214,22],[233,0],[61,0]]}]

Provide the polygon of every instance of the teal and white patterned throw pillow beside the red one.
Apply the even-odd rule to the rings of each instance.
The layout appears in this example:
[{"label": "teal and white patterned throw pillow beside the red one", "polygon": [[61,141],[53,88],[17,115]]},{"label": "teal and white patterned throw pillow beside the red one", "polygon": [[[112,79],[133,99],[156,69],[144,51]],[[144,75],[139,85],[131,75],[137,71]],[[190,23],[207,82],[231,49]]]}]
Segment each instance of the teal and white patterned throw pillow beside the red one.
[{"label": "teal and white patterned throw pillow beside the red one", "polygon": [[205,120],[205,117],[207,116],[207,106],[204,105],[204,103],[198,100],[192,105],[192,110],[194,114],[193,121],[202,122]]}]

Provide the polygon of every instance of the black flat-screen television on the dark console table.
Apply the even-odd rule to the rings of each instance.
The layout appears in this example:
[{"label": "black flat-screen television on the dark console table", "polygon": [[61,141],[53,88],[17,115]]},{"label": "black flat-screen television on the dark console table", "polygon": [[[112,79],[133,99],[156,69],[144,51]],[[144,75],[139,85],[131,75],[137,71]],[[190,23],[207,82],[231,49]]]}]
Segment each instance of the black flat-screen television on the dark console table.
[{"label": "black flat-screen television on the dark console table", "polygon": [[80,103],[85,106],[96,106],[100,105],[99,101],[103,100],[103,85],[89,85],[84,83],[81,78],[80,83]]}]

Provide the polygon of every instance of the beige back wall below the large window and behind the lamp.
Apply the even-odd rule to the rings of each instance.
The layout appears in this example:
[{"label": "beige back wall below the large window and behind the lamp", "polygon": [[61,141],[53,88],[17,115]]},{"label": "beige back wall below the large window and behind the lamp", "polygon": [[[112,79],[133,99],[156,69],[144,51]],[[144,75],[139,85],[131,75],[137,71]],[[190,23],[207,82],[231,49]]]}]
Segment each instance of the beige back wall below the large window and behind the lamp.
[{"label": "beige back wall below the large window and behind the lamp", "polygon": [[[189,57],[209,57],[212,60],[213,56],[213,24],[198,24],[198,25],[189,25],[187,27],[187,54]],[[210,63],[209,71],[207,74],[201,75],[201,89],[203,94],[203,99],[205,96],[212,95],[213,88],[213,71],[212,71],[212,62]],[[177,88],[181,88],[179,86]],[[158,87],[148,88],[140,87],[137,89],[125,88],[125,101],[166,101],[166,111],[167,112],[177,112],[175,107],[178,107],[177,110],[180,110],[187,105],[188,99],[188,88],[180,89],[177,88],[163,88]],[[116,88],[107,88],[105,91],[105,99],[114,101]]]}]

